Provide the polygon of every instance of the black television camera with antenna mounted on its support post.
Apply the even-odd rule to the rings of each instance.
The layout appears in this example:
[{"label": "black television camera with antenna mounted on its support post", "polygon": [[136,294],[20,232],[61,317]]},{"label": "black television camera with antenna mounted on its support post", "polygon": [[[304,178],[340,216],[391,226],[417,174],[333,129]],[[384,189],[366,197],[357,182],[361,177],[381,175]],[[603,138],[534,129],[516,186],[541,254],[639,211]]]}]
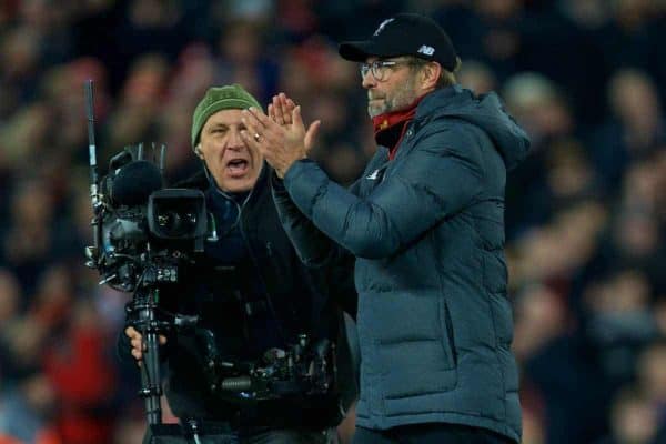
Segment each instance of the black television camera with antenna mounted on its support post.
[{"label": "black television camera with antenna mounted on its support post", "polygon": [[100,272],[100,285],[132,292],[125,310],[130,324],[142,335],[139,395],[144,398],[148,424],[162,424],[159,336],[194,325],[198,317],[158,316],[160,285],[178,281],[179,263],[186,260],[188,252],[203,251],[208,228],[204,196],[195,190],[161,189],[164,145],[159,169],[143,160],[142,144],[133,152],[125,149],[111,159],[109,175],[100,184],[91,80],[84,85],[84,95],[93,210],[93,245],[85,249],[85,265]]}]

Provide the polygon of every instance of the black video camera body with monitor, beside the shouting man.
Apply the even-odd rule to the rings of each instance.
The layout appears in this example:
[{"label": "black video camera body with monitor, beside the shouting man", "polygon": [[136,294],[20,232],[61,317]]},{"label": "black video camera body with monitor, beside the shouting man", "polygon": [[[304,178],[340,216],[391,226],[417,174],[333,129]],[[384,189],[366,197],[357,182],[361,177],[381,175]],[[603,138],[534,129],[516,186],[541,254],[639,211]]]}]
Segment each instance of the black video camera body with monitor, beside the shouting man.
[{"label": "black video camera body with monitor, beside the shouting man", "polygon": [[141,145],[125,147],[101,181],[93,225],[97,246],[87,255],[100,283],[133,292],[176,282],[179,264],[203,252],[205,198],[200,190],[163,188],[161,168],[144,159]]}]

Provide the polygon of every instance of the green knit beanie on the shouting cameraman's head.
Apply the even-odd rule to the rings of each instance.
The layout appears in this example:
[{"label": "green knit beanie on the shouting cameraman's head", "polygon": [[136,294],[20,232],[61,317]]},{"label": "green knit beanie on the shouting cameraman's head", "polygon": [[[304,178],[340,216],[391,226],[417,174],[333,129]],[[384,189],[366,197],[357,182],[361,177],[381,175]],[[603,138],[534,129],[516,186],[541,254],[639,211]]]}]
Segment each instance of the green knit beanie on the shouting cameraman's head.
[{"label": "green knit beanie on the shouting cameraman's head", "polygon": [[205,121],[221,110],[245,110],[250,107],[262,109],[261,104],[238,83],[209,88],[192,115],[192,148],[199,143],[199,135]]}]

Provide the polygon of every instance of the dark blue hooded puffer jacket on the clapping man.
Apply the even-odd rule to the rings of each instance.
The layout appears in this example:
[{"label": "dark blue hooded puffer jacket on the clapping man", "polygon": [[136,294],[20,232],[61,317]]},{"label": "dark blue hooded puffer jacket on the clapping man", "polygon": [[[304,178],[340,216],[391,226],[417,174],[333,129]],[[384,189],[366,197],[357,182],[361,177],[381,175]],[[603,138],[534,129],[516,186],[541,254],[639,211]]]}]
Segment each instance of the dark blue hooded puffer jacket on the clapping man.
[{"label": "dark blue hooded puffer jacket on the clapping man", "polygon": [[356,256],[359,425],[457,423],[519,440],[504,186],[528,147],[495,94],[450,87],[420,102],[395,159],[380,148],[351,192],[310,161],[274,182],[305,262],[330,261],[330,240]]}]

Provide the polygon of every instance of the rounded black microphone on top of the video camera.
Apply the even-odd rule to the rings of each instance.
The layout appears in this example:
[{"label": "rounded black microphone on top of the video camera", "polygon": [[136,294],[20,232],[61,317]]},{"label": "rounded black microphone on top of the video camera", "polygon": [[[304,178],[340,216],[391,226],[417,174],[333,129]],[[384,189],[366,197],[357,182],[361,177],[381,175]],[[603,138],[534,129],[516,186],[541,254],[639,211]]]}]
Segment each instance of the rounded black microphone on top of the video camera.
[{"label": "rounded black microphone on top of the video camera", "polygon": [[148,198],[162,189],[162,173],[152,162],[138,160],[122,167],[111,185],[115,205],[135,206],[148,203]]}]

